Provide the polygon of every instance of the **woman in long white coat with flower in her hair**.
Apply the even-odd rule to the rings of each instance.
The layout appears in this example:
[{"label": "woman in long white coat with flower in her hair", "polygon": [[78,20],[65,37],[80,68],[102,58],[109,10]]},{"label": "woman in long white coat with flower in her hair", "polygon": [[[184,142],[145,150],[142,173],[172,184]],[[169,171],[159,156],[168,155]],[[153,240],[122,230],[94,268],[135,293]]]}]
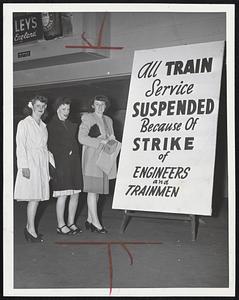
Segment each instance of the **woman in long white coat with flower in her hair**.
[{"label": "woman in long white coat with flower in her hair", "polygon": [[35,96],[31,99],[25,108],[28,116],[18,123],[16,134],[18,171],[14,199],[28,201],[24,235],[30,242],[43,241],[35,228],[35,216],[39,202],[49,200],[48,133],[41,120],[46,107],[47,98]]}]

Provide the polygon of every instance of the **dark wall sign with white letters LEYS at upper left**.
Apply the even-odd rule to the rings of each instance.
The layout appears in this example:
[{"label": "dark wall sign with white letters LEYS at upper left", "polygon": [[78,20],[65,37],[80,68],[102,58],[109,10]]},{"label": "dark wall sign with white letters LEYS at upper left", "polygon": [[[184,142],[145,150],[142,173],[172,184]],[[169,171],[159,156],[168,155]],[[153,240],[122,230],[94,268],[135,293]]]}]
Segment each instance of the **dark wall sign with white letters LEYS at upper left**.
[{"label": "dark wall sign with white letters LEYS at upper left", "polygon": [[41,39],[43,36],[41,13],[14,14],[13,44]]}]

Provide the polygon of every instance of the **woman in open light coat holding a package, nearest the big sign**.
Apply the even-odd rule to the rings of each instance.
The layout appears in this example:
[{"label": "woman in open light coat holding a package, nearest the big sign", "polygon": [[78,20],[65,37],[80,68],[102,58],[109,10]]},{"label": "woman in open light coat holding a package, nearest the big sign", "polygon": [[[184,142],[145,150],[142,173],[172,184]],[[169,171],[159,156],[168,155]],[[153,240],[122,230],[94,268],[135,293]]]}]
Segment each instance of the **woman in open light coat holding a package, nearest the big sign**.
[{"label": "woman in open light coat holding a package, nearest the big sign", "polygon": [[78,139],[83,144],[82,173],[83,191],[87,192],[88,218],[86,229],[92,232],[107,233],[100,224],[97,214],[99,194],[109,193],[109,179],[116,177],[116,163],[109,175],[106,175],[96,164],[104,144],[114,139],[113,122],[104,112],[109,107],[106,96],[95,96],[90,102],[91,113],[82,116]]}]

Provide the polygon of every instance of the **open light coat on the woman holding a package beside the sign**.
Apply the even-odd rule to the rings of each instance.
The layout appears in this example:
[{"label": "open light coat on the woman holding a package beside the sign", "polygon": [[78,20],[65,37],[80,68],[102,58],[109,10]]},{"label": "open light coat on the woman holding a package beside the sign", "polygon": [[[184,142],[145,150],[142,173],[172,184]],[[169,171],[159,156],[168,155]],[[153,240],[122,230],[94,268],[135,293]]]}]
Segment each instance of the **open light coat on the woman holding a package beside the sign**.
[{"label": "open light coat on the woman holding a package beside the sign", "polygon": [[[81,120],[82,123],[79,128],[78,139],[81,144],[83,144],[82,149],[82,173],[85,176],[103,178],[103,171],[96,165],[96,161],[99,157],[99,152],[103,145],[100,143],[101,139],[105,139],[106,135],[114,138],[113,122],[108,116],[103,116],[107,124],[108,133],[105,131],[102,119],[99,118],[95,113],[85,113],[83,114]],[[97,138],[89,136],[90,128],[97,124],[101,135]],[[116,178],[116,162],[113,165],[109,179]]]}]

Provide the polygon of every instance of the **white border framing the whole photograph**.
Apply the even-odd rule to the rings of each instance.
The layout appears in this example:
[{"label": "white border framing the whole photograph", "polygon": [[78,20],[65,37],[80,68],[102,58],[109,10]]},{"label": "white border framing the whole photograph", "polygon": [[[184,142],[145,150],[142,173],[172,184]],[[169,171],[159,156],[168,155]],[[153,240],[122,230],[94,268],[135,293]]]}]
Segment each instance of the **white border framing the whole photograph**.
[{"label": "white border framing the whole photograph", "polygon": [[91,12],[225,12],[227,68],[227,147],[229,288],[116,288],[112,296],[235,296],[235,5],[143,3],[27,3],[3,5],[3,295],[109,296],[108,289],[14,289],[13,278],[13,44],[12,13],[39,11]]}]

